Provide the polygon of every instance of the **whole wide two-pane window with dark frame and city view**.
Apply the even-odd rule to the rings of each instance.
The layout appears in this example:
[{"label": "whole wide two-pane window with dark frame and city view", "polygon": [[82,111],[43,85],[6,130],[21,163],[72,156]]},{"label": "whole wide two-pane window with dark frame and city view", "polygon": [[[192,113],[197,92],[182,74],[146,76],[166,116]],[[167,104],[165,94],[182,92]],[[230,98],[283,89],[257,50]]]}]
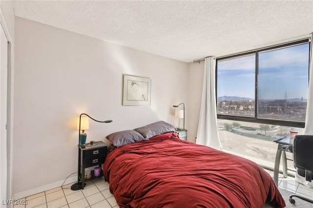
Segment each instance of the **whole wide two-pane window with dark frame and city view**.
[{"label": "whole wide two-pane window with dark frame and city view", "polygon": [[304,127],[309,40],[217,59],[219,119]]}]

